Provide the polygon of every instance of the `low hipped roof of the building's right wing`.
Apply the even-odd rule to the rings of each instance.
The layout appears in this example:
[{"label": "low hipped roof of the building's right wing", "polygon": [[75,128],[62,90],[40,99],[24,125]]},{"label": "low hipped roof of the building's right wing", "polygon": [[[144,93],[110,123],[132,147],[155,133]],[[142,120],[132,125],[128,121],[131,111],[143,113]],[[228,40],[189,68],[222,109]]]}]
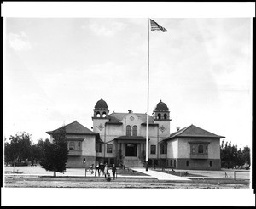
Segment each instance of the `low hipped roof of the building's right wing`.
[{"label": "low hipped roof of the building's right wing", "polygon": [[189,127],[183,127],[179,131],[175,133],[171,133],[171,135],[168,138],[165,138],[165,140],[169,140],[172,138],[224,138],[223,136],[216,135],[214,133],[210,133],[201,127],[196,127],[193,124]]}]

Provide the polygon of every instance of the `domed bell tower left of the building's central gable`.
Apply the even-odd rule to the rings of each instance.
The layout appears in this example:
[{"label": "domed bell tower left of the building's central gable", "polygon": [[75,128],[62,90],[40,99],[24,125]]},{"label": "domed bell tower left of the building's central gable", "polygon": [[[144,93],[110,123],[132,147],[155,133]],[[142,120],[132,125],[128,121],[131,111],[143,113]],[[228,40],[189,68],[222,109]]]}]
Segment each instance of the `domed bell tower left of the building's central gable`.
[{"label": "domed bell tower left of the building's central gable", "polygon": [[93,112],[93,131],[102,135],[104,133],[105,123],[109,121],[108,104],[103,99],[97,101]]}]

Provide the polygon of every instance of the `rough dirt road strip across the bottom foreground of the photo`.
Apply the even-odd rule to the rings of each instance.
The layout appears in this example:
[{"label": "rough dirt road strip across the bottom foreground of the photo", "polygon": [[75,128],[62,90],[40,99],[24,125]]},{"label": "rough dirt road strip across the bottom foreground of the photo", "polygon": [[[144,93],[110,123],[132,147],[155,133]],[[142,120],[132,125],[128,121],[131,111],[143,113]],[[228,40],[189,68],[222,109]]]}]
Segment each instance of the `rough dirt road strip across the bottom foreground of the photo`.
[{"label": "rough dirt road strip across the bottom foreground of the photo", "polygon": [[245,189],[248,180],[202,180],[190,182],[159,181],[152,178],[118,178],[107,182],[104,178],[52,178],[38,176],[5,176],[9,188],[163,188],[163,189]]}]

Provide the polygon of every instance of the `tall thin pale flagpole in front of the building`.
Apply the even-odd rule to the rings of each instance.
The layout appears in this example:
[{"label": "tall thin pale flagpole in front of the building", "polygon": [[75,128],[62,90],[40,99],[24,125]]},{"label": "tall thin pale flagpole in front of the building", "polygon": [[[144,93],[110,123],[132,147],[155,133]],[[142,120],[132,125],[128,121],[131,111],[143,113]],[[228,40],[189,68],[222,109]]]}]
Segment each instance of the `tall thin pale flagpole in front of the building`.
[{"label": "tall thin pale flagpole in front of the building", "polygon": [[149,28],[150,19],[148,18],[148,102],[147,102],[147,130],[146,130],[146,171],[148,171],[148,103],[149,103]]}]

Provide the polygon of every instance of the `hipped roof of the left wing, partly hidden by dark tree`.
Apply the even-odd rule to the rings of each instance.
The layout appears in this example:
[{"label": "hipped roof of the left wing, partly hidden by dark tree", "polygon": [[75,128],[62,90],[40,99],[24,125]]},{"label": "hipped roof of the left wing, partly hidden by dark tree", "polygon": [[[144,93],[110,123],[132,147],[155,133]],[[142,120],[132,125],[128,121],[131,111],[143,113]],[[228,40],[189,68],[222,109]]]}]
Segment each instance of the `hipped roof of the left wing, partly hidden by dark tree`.
[{"label": "hipped roof of the left wing, partly hidden by dark tree", "polygon": [[[87,127],[81,125],[78,121],[73,121],[72,123],[64,126],[67,134],[79,134],[79,135],[97,135],[98,133],[90,131]],[[60,128],[55,129],[54,131],[46,132],[52,134],[57,132]]]}]

